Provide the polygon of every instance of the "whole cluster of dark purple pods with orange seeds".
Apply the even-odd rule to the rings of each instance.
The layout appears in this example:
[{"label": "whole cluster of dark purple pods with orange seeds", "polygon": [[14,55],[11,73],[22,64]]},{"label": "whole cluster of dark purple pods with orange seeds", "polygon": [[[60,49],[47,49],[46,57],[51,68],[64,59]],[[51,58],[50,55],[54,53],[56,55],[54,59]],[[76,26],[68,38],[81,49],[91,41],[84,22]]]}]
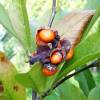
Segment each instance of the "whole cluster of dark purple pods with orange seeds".
[{"label": "whole cluster of dark purple pods with orange seeds", "polygon": [[29,63],[37,61],[43,64],[43,74],[54,75],[57,66],[66,60],[66,55],[71,49],[71,43],[66,38],[61,39],[57,31],[39,29],[36,33],[37,51],[30,56]]}]

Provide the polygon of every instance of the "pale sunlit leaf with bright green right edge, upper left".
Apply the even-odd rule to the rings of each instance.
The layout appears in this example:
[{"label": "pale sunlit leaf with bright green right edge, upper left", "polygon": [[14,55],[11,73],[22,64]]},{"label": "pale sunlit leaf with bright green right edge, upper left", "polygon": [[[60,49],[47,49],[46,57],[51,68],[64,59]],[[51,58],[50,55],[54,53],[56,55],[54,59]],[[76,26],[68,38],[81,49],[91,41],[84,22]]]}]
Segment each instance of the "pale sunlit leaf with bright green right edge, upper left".
[{"label": "pale sunlit leaf with bright green right edge, upper left", "polygon": [[7,8],[10,20],[16,35],[24,45],[32,50],[32,34],[30,33],[29,20],[26,10],[26,0],[12,0]]}]

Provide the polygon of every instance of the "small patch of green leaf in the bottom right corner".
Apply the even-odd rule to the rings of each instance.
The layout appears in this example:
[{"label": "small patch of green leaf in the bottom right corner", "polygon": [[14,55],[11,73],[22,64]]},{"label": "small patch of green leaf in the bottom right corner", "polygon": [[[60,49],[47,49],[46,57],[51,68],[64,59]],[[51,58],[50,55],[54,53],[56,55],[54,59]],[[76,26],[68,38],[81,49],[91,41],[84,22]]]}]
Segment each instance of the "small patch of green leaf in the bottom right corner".
[{"label": "small patch of green leaf in the bottom right corner", "polygon": [[100,85],[91,90],[88,100],[100,100]]}]

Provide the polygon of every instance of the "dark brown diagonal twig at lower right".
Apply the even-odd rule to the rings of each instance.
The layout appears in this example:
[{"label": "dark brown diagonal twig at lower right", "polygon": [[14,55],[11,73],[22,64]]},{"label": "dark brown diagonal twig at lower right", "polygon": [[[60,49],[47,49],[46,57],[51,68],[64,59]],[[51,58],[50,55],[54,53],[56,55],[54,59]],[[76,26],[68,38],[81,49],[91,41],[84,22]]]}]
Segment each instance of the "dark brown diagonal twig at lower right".
[{"label": "dark brown diagonal twig at lower right", "polygon": [[42,95],[42,98],[48,96],[48,95],[51,93],[52,90],[54,90],[55,88],[57,88],[59,85],[61,85],[63,82],[65,82],[65,81],[68,80],[69,78],[71,78],[71,77],[73,77],[73,76],[79,74],[80,72],[83,72],[83,71],[85,71],[85,70],[87,70],[87,69],[89,69],[89,68],[96,67],[95,65],[96,65],[96,62],[94,62],[94,63],[88,65],[87,67],[84,67],[84,68],[80,69],[80,70],[77,71],[77,72],[74,72],[74,73],[72,73],[72,74],[70,74],[70,75],[68,75],[68,76],[65,76],[63,79],[61,79],[60,81],[58,81],[58,82],[52,87],[52,89],[47,90],[47,91]]}]

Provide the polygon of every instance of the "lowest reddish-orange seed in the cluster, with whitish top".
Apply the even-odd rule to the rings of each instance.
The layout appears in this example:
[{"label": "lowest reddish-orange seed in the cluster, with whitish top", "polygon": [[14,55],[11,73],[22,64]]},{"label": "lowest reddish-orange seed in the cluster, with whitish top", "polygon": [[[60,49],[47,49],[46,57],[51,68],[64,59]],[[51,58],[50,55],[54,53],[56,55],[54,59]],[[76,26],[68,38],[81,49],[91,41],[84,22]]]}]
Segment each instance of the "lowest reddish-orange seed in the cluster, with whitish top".
[{"label": "lowest reddish-orange seed in the cluster, with whitish top", "polygon": [[56,74],[57,68],[56,67],[52,67],[52,66],[44,67],[42,72],[43,72],[43,74],[45,76],[52,76],[52,75]]}]

